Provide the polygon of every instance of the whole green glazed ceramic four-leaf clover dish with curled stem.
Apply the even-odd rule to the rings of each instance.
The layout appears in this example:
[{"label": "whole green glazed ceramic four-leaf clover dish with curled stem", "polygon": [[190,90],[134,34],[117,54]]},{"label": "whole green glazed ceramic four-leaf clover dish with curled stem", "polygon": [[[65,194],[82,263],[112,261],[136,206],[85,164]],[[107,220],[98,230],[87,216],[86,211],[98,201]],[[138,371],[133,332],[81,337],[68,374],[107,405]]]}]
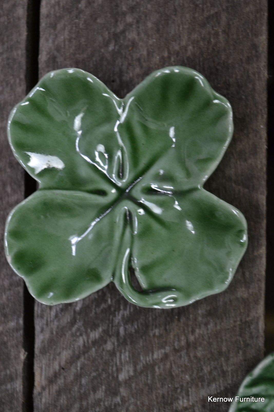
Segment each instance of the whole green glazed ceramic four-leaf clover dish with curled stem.
[{"label": "whole green glazed ceramic four-leaf clover dish with curled stem", "polygon": [[221,292],[246,221],[203,184],[232,133],[230,104],[189,68],[158,70],[124,99],[83,70],[48,73],[9,119],[14,155],[39,183],[7,219],[10,265],[50,305],[110,281],[143,307]]}]

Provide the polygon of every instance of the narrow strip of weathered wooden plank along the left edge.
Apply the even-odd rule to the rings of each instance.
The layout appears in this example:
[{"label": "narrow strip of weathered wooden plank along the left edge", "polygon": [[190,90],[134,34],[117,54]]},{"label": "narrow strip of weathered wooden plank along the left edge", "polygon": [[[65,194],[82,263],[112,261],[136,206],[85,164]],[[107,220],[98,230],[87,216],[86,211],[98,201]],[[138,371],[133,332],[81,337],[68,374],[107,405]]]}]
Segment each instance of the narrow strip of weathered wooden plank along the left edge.
[{"label": "narrow strip of weathered wooden plank along the left edge", "polygon": [[[0,238],[7,214],[24,198],[24,172],[7,140],[10,110],[25,95],[27,2],[4,1],[0,15]],[[7,264],[0,248],[0,405],[5,412],[22,410],[23,280]]]}]

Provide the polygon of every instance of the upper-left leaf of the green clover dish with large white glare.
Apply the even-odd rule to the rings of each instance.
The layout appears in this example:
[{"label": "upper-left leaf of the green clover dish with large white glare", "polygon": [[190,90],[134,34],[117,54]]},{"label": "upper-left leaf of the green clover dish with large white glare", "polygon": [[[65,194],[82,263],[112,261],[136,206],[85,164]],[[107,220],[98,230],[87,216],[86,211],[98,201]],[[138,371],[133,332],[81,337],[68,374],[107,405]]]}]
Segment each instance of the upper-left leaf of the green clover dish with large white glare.
[{"label": "upper-left leaf of the green clover dish with large white glare", "polygon": [[12,149],[41,188],[108,192],[115,187],[112,170],[120,145],[111,98],[119,101],[89,73],[57,70],[14,108],[8,128]]}]

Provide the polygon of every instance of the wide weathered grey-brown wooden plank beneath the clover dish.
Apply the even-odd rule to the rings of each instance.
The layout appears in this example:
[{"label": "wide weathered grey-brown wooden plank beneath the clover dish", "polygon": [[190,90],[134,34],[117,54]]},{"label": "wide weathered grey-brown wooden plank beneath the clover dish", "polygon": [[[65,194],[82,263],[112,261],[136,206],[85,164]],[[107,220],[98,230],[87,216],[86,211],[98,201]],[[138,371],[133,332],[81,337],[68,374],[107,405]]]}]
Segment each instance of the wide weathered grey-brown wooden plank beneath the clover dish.
[{"label": "wide weathered grey-brown wooden plank beneath the clover dish", "polygon": [[207,187],[237,206],[249,248],[228,290],[189,307],[135,307],[108,286],[75,304],[36,304],[35,411],[227,411],[263,356],[265,0],[47,0],[40,75],[79,67],[124,96],[152,70],[203,73],[235,113]]}]

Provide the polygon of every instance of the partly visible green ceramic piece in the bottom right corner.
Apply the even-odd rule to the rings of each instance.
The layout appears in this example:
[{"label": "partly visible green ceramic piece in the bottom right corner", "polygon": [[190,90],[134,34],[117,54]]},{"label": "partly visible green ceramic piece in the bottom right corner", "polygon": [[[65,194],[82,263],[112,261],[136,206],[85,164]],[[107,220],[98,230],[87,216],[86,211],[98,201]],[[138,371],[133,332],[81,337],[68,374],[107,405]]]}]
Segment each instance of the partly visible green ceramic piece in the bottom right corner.
[{"label": "partly visible green ceramic piece in the bottom right corner", "polygon": [[[239,399],[235,402],[234,400],[229,412],[274,411],[274,353],[267,356],[247,375],[236,396],[255,399],[254,402],[240,402]],[[255,402],[258,398],[265,398],[265,401]]]}]

